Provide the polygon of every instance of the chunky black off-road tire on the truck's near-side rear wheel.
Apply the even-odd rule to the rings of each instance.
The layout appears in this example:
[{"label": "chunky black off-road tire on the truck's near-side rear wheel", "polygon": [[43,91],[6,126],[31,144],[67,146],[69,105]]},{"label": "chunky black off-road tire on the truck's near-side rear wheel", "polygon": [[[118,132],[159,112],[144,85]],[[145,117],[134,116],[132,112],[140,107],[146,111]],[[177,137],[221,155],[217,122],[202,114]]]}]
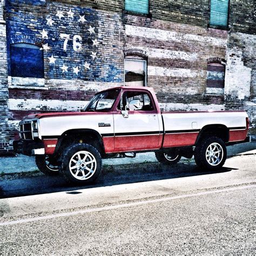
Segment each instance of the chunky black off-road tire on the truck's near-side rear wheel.
[{"label": "chunky black off-road tire on the truck's near-side rear wheel", "polygon": [[[210,150],[211,145],[217,145],[217,147],[219,147],[219,150],[221,151],[220,152],[221,156],[219,157],[216,156],[219,159],[219,162],[217,161],[217,163],[214,165],[213,163],[212,164],[209,163],[210,157],[208,157],[208,160],[206,157],[207,153],[211,151]],[[218,152],[218,150],[216,152]],[[217,159],[217,158],[213,158],[213,159]],[[200,167],[200,169],[218,170],[224,165],[226,159],[227,159],[226,145],[222,139],[215,136],[206,138],[201,143],[199,143],[196,146],[196,149],[194,150],[194,160],[196,161],[196,164]]]}]

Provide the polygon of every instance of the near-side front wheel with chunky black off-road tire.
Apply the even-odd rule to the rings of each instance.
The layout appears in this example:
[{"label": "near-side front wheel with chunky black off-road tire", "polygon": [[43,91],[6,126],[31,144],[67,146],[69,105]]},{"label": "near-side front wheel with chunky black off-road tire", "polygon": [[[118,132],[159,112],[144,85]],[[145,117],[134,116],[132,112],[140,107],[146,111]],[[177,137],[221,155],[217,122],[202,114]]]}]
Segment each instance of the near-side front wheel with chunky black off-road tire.
[{"label": "near-side front wheel with chunky black off-road tire", "polygon": [[[83,160],[83,159],[79,159],[78,156],[80,156],[80,158],[81,156],[82,157],[86,156],[86,158],[85,160]],[[89,158],[89,161],[86,161],[87,158]],[[83,162],[81,161],[79,163],[78,162],[79,160],[83,160]],[[86,164],[89,162],[92,162],[92,163]],[[87,167],[87,165],[89,165],[89,167]],[[82,170],[81,166],[83,166],[83,168],[86,168],[86,167],[88,169],[91,168],[91,173],[87,170],[84,170],[84,169]],[[102,157],[100,156],[99,151],[95,147],[89,144],[86,144],[86,143],[72,144],[68,146],[63,153],[60,172],[63,174],[64,178],[69,183],[78,184],[78,185],[93,184],[95,180],[99,177],[100,173],[102,172]],[[87,173],[88,173],[88,177],[86,177],[86,179],[83,179],[83,177],[85,177]]]}]

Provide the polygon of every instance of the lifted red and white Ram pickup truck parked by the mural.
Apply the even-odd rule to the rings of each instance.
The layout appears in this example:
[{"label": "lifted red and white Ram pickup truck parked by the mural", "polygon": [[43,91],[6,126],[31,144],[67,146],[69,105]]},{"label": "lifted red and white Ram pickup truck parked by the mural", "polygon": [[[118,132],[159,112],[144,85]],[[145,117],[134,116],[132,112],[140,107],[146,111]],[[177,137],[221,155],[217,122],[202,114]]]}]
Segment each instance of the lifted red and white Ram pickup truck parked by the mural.
[{"label": "lifted red and white Ram pickup truck parked by the mural", "polygon": [[89,184],[99,176],[102,158],[145,151],[164,164],[194,155],[200,167],[219,169],[226,145],[250,141],[248,127],[245,111],[161,112],[153,89],[115,87],[97,93],[83,112],[25,117],[14,151],[36,156],[46,174]]}]

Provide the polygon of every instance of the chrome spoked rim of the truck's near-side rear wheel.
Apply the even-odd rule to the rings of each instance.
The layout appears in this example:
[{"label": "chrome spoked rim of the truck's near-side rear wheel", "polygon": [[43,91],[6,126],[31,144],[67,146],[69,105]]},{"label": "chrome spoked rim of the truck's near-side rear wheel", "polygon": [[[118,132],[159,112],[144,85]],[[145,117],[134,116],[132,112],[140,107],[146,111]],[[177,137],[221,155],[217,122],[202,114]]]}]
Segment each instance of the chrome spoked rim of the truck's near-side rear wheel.
[{"label": "chrome spoked rim of the truck's near-side rear wheel", "polygon": [[216,166],[223,159],[223,147],[219,143],[210,144],[205,153],[207,163]]}]

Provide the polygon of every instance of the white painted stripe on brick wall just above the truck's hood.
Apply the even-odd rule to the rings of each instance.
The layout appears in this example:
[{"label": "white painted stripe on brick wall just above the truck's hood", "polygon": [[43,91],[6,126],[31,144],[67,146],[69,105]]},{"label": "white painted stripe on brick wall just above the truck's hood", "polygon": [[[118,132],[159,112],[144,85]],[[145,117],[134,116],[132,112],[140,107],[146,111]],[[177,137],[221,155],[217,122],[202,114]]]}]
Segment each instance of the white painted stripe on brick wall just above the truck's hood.
[{"label": "white painted stripe on brick wall just above the truck's hood", "polygon": [[87,103],[83,100],[9,99],[10,110],[77,111],[84,109]]}]

